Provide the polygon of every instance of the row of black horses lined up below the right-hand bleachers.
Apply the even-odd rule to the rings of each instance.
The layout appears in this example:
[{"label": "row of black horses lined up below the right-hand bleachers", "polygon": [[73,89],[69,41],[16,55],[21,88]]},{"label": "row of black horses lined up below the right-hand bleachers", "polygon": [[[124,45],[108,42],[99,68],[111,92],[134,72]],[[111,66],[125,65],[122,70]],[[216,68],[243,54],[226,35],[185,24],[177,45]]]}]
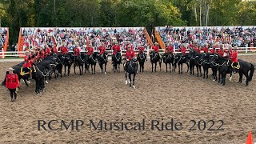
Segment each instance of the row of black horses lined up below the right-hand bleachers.
[{"label": "row of black horses lined up below the right-hand bleachers", "polygon": [[[160,57],[162,56],[162,58]],[[194,67],[197,68],[197,77],[200,74],[202,77],[202,68],[203,68],[203,78],[208,78],[208,70],[211,69],[213,72],[214,81],[221,83],[223,86],[226,84],[226,74],[230,74],[230,80],[232,78],[232,74],[239,74],[239,81],[242,83],[242,76],[246,77],[246,86],[248,86],[249,82],[252,80],[254,75],[254,64],[250,62],[243,61],[238,59],[238,69],[233,68],[232,62],[229,58],[224,58],[219,54],[210,54],[203,53],[200,54],[194,50],[190,50],[188,54],[158,54],[151,53],[150,62],[152,64],[152,72],[153,72],[153,64],[155,64],[154,70],[156,70],[156,64],[159,62],[160,70],[161,63],[164,62],[166,64],[166,72],[168,71],[168,65],[171,71],[175,71],[178,65],[178,74],[182,74],[182,64],[186,64],[187,72],[190,70],[190,74],[194,75]],[[217,76],[218,74],[218,76]]]}]

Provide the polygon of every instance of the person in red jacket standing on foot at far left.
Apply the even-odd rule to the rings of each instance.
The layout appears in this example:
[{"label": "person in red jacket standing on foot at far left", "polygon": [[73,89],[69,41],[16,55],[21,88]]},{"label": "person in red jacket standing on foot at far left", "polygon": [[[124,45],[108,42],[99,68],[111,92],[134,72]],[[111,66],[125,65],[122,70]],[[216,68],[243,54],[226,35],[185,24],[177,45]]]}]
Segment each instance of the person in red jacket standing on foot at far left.
[{"label": "person in red jacket standing on foot at far left", "polygon": [[[9,72],[9,73],[8,73]],[[14,74],[14,69],[9,68],[6,72],[6,88],[10,90],[10,102],[15,102],[17,98],[16,89],[20,86],[18,81],[18,75]]]}]

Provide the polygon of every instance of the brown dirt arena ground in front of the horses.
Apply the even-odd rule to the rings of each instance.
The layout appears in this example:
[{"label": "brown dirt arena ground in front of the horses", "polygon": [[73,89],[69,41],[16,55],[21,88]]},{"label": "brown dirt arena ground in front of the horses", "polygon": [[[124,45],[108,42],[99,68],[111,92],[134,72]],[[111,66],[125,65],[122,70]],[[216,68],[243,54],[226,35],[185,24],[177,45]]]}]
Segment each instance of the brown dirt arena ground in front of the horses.
[{"label": "brown dirt arena ground in front of the horses", "polygon": [[[256,56],[239,58],[256,63]],[[18,62],[0,62],[1,82],[6,68]],[[146,70],[135,78],[136,89],[125,85],[123,70],[114,74],[107,66],[107,74],[75,75],[53,79],[40,95],[22,82],[16,102],[10,102],[9,91],[0,88],[0,143],[245,143],[252,130],[256,140],[256,81],[249,86],[238,84],[238,74],[226,86],[187,74],[166,73],[165,66],[156,73]],[[98,122],[142,122],[146,130],[100,131],[89,128],[90,119]],[[163,118],[163,120],[162,120]],[[181,122],[182,130],[150,130],[151,120]],[[38,120],[83,119],[86,126],[77,130],[38,130]],[[196,130],[190,130],[197,123]],[[198,130],[198,121],[206,122],[206,130]],[[209,128],[214,121],[215,130]],[[223,130],[216,130],[221,126]],[[219,122],[218,122],[219,121]],[[54,124],[58,127],[58,124]],[[202,121],[200,128],[202,129]]]}]

